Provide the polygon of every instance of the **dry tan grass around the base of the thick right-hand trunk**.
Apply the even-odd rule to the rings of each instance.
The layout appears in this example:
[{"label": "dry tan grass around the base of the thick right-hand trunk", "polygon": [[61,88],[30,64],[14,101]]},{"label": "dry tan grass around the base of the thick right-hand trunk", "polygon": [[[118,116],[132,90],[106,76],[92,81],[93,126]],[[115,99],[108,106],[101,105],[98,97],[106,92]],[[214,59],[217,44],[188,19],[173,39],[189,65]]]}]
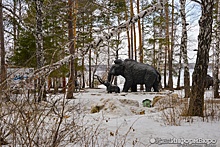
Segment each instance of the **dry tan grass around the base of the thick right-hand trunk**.
[{"label": "dry tan grass around the base of the thick right-hand trunk", "polygon": [[[161,111],[161,118],[166,125],[181,125],[182,121],[193,122],[193,117],[188,115],[189,99],[180,98],[176,94],[155,96],[153,106]],[[220,120],[220,99],[207,99],[204,105],[203,121]]]}]

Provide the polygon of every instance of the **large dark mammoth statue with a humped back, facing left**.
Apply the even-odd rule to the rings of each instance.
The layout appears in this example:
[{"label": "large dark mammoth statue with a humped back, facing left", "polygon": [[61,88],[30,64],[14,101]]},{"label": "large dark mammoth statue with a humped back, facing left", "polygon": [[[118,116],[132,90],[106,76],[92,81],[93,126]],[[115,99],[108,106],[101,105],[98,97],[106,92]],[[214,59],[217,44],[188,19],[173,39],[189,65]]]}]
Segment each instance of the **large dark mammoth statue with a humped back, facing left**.
[{"label": "large dark mammoth statue with a humped back, facing left", "polygon": [[123,92],[137,92],[137,84],[145,84],[147,92],[153,87],[154,92],[159,92],[161,76],[159,72],[148,64],[139,63],[132,59],[114,61],[108,72],[108,81],[111,83],[114,76],[121,75],[125,78]]}]

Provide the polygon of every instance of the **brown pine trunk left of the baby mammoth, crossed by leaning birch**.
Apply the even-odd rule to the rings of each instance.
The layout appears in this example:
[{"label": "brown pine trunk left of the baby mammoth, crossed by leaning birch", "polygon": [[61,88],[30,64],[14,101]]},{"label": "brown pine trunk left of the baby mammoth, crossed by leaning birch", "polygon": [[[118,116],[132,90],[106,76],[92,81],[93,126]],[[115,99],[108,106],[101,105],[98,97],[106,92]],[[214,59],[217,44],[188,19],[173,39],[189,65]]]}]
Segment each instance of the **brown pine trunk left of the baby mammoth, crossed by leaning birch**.
[{"label": "brown pine trunk left of the baby mammoth, crossed by leaning birch", "polygon": [[[68,0],[68,6],[69,6],[69,14],[68,14],[68,39],[70,42],[69,45],[69,52],[70,54],[75,54],[75,48],[74,48],[74,36],[73,36],[73,0]],[[74,59],[70,59],[69,63],[69,81],[68,81],[68,89],[67,89],[67,99],[73,99],[73,93],[75,90],[75,66],[74,66]]]}]

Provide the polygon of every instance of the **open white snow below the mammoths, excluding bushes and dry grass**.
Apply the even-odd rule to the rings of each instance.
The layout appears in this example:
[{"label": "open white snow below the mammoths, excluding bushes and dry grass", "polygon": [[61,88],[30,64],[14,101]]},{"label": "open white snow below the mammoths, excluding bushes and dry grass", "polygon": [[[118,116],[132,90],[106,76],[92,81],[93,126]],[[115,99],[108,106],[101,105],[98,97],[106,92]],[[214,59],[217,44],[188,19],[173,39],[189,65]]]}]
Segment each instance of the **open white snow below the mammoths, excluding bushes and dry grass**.
[{"label": "open white snow below the mammoths, excluding bushes and dry grass", "polygon": [[[121,85],[120,85],[121,87]],[[122,88],[122,87],[121,87]],[[93,124],[99,128],[103,139],[103,146],[178,146],[178,145],[213,145],[220,146],[220,111],[219,105],[215,118],[181,117],[179,110],[162,108],[159,105],[143,107],[144,99],[153,100],[155,96],[165,96],[162,93],[119,93],[108,94],[104,86],[99,89],[86,89],[76,93],[76,99],[84,106],[87,125]],[[183,92],[175,91],[182,98]],[[206,92],[211,98],[212,92]],[[97,108],[94,110],[94,108]],[[159,108],[159,109],[158,109]],[[91,112],[92,111],[92,112]],[[169,125],[169,120],[176,121],[176,125]],[[169,118],[170,117],[170,118]],[[120,142],[121,144],[116,144]]]}]

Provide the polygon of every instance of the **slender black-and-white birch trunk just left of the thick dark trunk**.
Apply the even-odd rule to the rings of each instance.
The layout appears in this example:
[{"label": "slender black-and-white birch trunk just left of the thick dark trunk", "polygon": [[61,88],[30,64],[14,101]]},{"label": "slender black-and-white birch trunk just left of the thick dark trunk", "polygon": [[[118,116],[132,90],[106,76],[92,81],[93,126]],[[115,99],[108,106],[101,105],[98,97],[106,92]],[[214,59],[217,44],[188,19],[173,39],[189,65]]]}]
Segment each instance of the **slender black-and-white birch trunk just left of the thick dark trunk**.
[{"label": "slender black-and-white birch trunk just left of the thick dark trunk", "polygon": [[181,38],[181,46],[180,50],[183,56],[184,62],[184,90],[185,90],[185,98],[189,98],[190,96],[190,77],[189,77],[189,63],[187,56],[187,30],[186,30],[186,13],[185,13],[185,5],[186,0],[180,0],[180,15],[182,18],[182,38]]}]

